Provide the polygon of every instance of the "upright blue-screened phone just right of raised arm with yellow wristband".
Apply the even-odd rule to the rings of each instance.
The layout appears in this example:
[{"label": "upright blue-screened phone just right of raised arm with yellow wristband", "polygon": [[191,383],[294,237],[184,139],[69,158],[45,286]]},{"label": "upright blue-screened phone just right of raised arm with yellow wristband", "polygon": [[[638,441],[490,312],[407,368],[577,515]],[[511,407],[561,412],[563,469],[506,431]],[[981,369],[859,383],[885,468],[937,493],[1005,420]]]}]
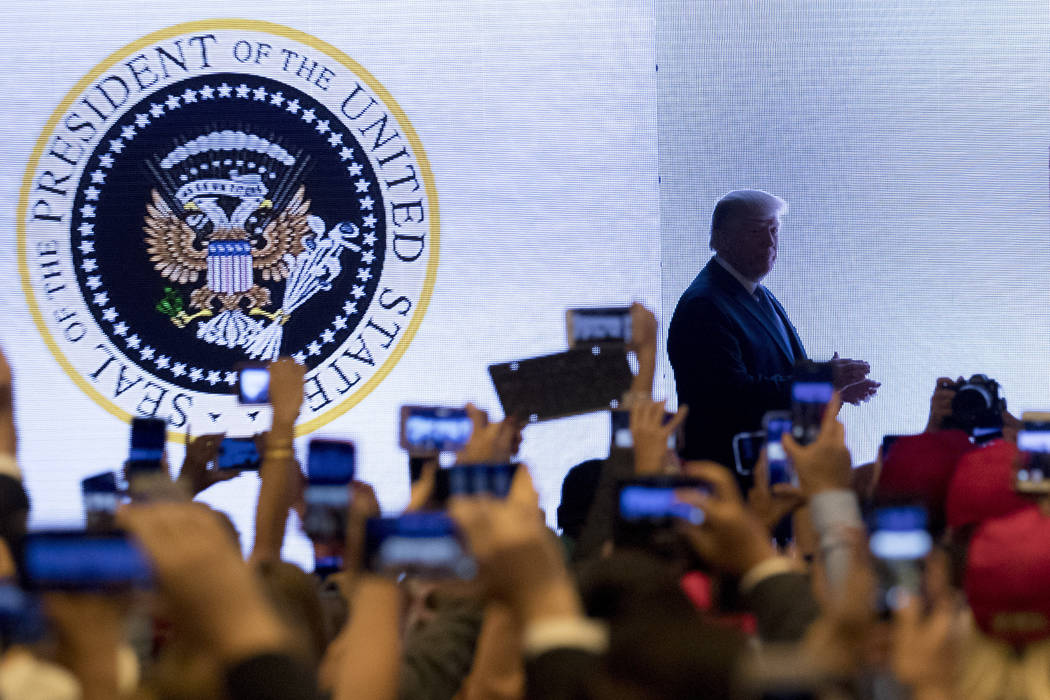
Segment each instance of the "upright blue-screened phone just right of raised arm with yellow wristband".
[{"label": "upright blue-screened phone just right of raised arm with yellow wristband", "polygon": [[354,443],[345,440],[310,441],[302,529],[315,542],[341,542],[345,536],[354,451]]}]

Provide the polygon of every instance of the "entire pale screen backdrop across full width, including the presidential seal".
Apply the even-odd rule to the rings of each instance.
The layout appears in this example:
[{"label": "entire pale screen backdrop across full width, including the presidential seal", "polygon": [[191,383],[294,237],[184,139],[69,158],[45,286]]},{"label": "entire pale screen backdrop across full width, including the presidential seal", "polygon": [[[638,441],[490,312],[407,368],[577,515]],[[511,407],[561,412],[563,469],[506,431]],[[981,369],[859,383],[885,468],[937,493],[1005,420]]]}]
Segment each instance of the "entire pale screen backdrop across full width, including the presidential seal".
[{"label": "entire pale screen backdrop across full width, including the presidential seal", "polygon": [[[811,356],[882,382],[843,413],[856,462],[923,427],[942,375],[1050,408],[1045,1],[7,0],[0,38],[0,343],[34,525],[81,522],[132,413],[266,425],[224,391],[275,348],[310,367],[299,453],[353,440],[396,512],[399,406],[499,418],[486,366],[565,349],[570,306],[642,301],[666,335],[744,187],[791,205],[766,283]],[[271,257],[187,248],[175,207],[253,226],[219,194],[294,213]],[[526,429],[548,522],[608,444],[605,413]],[[247,544],[257,488],[202,500]]]}]

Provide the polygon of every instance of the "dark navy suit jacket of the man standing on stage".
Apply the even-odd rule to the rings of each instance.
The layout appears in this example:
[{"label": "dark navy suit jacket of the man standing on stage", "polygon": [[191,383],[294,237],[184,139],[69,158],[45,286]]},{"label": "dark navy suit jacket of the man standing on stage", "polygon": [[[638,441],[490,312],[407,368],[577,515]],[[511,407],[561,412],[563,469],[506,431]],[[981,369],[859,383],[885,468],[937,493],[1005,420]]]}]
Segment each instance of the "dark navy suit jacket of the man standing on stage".
[{"label": "dark navy suit jacket of the man standing on stage", "polygon": [[667,352],[678,404],[689,405],[687,459],[714,460],[732,469],[733,436],[760,429],[765,411],[791,405],[792,369],[805,358],[805,348],[783,306],[765,293],[791,347],[759,302],[714,258],[675,306]]}]

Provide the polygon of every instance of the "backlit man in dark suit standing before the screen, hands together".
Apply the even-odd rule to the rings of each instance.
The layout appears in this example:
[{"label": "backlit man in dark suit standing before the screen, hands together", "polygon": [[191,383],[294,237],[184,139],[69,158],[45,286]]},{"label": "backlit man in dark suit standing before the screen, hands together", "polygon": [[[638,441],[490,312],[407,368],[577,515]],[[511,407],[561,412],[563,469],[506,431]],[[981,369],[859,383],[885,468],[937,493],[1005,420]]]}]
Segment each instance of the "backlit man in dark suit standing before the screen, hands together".
[{"label": "backlit man in dark suit standing before the screen, hands together", "polygon": [[[689,405],[687,459],[733,465],[733,436],[757,430],[762,415],[791,405],[794,365],[806,359],[783,306],[759,282],[777,259],[788,203],[761,190],[736,190],[715,205],[711,250],[675,306],[667,349],[678,403]],[[875,395],[866,362],[832,359],[842,400]]]}]

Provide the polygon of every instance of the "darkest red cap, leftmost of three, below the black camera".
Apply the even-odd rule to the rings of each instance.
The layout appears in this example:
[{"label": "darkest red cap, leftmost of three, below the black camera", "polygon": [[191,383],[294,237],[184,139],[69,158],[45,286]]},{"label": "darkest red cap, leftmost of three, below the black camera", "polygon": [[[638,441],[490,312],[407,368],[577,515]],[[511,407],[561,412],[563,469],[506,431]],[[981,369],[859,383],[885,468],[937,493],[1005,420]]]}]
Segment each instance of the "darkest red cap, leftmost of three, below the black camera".
[{"label": "darkest red cap, leftmost of three, below the black camera", "polygon": [[940,430],[899,438],[882,455],[877,499],[914,499],[942,512],[956,464],[973,443],[962,430]]}]

